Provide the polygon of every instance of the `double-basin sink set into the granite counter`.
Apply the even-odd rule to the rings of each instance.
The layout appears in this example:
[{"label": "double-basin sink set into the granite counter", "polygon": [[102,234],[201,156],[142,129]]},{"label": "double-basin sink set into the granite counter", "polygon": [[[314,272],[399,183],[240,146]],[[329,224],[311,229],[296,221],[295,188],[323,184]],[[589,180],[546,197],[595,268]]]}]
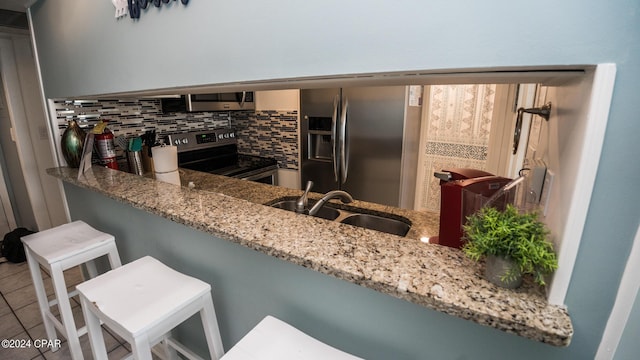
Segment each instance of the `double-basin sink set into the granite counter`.
[{"label": "double-basin sink set into the granite counter", "polygon": [[[295,211],[297,198],[280,198],[265,205],[278,209]],[[316,200],[309,199],[309,207],[312,207]],[[365,209],[349,207],[349,210],[336,208],[334,204],[327,203],[320,208],[315,217],[325,220],[336,221],[342,224],[358,226],[365,229],[381,231],[387,234],[406,236],[411,229],[411,221],[408,219],[387,213],[369,213]]]}]

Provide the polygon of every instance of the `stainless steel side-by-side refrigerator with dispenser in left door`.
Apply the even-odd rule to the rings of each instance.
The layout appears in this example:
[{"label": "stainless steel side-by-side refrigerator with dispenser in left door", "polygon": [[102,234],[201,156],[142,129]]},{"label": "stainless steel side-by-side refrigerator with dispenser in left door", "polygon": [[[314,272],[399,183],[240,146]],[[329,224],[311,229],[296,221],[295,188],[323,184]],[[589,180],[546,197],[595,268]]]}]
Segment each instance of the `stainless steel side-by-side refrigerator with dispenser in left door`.
[{"label": "stainless steel side-by-side refrigerator with dispenser in left door", "polygon": [[301,187],[399,206],[407,96],[406,86],[301,90]]}]

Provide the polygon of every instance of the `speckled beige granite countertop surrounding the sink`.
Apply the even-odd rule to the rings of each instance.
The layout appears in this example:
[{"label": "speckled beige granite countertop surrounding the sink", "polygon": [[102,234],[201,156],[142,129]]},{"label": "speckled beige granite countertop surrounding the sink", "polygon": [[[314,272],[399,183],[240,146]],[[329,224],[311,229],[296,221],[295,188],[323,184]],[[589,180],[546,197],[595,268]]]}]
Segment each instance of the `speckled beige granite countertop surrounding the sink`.
[{"label": "speckled beige granite countertop surrounding the sink", "polygon": [[[517,290],[484,280],[482,264],[460,250],[425,244],[438,216],[355,201],[356,207],[404,216],[406,237],[385,234],[263,204],[302,191],[180,169],[183,185],[94,166],[48,174],[169,220],[406,301],[535,341],[567,346],[567,310],[550,305],[543,289],[525,281]],[[310,197],[319,197],[312,194]]]}]

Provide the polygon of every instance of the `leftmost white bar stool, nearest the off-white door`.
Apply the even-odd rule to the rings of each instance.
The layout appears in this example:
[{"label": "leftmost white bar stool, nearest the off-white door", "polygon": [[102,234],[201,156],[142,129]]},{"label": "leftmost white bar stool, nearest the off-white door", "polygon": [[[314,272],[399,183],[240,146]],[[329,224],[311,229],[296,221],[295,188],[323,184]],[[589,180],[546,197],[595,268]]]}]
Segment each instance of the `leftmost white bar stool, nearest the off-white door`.
[{"label": "leftmost white bar stool, nearest the off-white door", "polygon": [[[76,329],[69,298],[78,294],[77,290],[67,292],[64,271],[80,264],[86,264],[89,276],[95,277],[97,270],[93,260],[107,255],[111,268],[121,266],[118,249],[112,235],[98,231],[83,221],[74,221],[37,232],[22,238],[29,270],[33,279],[38,305],[42,314],[47,337],[57,338],[56,329],[67,339],[69,352],[74,360],[83,359],[79,337],[86,334],[86,327]],[[48,301],[42,280],[40,266],[51,275],[55,299]],[[58,305],[59,321],[51,307]],[[52,348],[58,350],[58,347]]]}]

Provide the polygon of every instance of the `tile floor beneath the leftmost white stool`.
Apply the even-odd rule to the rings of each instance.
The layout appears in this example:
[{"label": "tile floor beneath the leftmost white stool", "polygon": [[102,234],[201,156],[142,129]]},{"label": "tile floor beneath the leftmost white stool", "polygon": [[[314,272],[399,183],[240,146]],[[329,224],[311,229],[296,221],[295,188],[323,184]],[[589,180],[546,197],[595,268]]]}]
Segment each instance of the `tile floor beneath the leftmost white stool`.
[{"label": "tile floor beneath the leftmost white stool", "polygon": [[[0,359],[30,360],[30,359],[70,359],[66,339],[58,335],[62,347],[52,352],[47,347],[36,348],[34,340],[46,338],[42,316],[38,309],[35,290],[31,281],[31,274],[26,262],[14,264],[4,262],[0,257],[0,340],[21,339],[31,340],[30,348],[9,349],[0,346]],[[49,276],[43,271],[45,287],[49,298],[52,299],[53,288]],[[82,281],[79,268],[65,271],[65,279],[69,288],[75,287]],[[77,297],[72,298],[74,318],[79,326],[84,324],[82,309]],[[54,309],[57,313],[57,309]],[[130,346],[109,330],[103,328],[103,335],[109,351],[109,359],[121,359],[130,352]],[[89,339],[86,335],[80,338],[85,359],[92,359]]]}]

